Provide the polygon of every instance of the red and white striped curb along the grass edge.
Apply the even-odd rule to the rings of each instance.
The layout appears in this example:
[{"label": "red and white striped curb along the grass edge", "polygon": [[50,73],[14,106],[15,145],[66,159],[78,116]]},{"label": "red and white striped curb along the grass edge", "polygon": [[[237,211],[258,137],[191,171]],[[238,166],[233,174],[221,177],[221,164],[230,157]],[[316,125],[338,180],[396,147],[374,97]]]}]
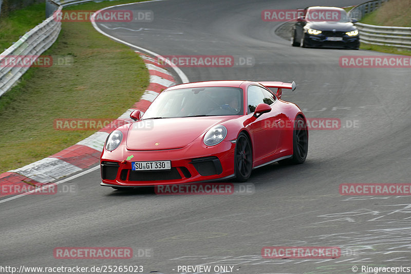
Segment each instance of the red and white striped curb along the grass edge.
[{"label": "red and white striped curb along the grass edge", "polygon": [[[124,124],[124,122],[133,122],[133,120],[129,118],[129,115],[134,109],[140,109],[140,111],[145,112],[158,94],[165,88],[176,84],[170,72],[162,68],[154,58],[139,51],[136,52],[141,55],[150,72],[150,84],[140,100],[127,109],[119,118],[114,120],[114,122],[122,122],[121,124]],[[13,188],[24,189],[25,187],[27,188],[28,185],[40,187],[50,184],[59,178],[69,176],[96,165],[96,163],[100,162],[104,142],[108,134],[113,130],[110,125],[107,125],[100,131],[65,150],[30,163],[25,167],[0,174],[0,197],[10,194],[20,194],[14,193],[13,191],[3,193],[3,188],[7,188],[8,190]]]}]

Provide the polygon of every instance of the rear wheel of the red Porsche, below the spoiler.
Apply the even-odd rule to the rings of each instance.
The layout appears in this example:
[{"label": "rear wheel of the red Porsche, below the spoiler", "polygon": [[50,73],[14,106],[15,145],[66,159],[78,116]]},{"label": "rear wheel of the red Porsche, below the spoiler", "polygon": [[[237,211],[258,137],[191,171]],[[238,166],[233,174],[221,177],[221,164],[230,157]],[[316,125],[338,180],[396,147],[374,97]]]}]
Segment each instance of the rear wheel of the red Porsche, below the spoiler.
[{"label": "rear wheel of the red Porsche, below the spoiler", "polygon": [[278,161],[281,165],[298,165],[303,163],[308,153],[308,129],[305,120],[298,116],[294,121],[292,137],[293,154],[291,158]]}]

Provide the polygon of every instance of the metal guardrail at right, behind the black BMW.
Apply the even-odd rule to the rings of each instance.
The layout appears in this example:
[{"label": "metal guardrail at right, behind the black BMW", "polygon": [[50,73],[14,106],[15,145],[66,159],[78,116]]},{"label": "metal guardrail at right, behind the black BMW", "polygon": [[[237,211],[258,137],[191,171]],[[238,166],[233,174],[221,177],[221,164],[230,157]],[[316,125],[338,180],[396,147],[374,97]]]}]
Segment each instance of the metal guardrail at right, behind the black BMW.
[{"label": "metal guardrail at right, behind the black BMW", "polygon": [[[361,20],[362,17],[388,0],[373,0],[360,4],[348,12],[348,16]],[[372,45],[411,49],[411,27],[375,26],[355,23],[360,31],[360,42]]]}]

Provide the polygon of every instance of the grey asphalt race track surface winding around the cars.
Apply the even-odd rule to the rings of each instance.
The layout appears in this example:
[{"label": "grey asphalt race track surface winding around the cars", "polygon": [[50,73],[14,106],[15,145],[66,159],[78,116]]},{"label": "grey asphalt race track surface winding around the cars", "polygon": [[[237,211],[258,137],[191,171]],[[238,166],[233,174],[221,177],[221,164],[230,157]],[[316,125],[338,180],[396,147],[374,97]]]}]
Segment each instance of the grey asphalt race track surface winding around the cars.
[{"label": "grey asphalt race track surface winding around the cars", "polygon": [[[409,68],[343,68],[340,56],[384,54],[291,47],[274,33],[281,22],[261,20],[265,9],[362,2],[176,0],[115,8],[154,13],[150,23],[99,24],[128,43],[166,56],[229,55],[253,60],[248,66],[181,67],[191,82],[295,81],[296,91],[285,91],[283,99],[297,103],[307,117],[339,118],[341,129],[310,131],[303,165],[274,163],[254,170],[247,182],[253,193],[115,191],[100,187],[100,170],[95,170],[62,184],[73,186],[76,193],[0,200],[0,264],[142,265],[143,273],[163,274],[183,273],[179,265],[199,264],[231,265],[233,273],[245,274],[353,273],[353,266],[361,273],[361,266],[411,267],[409,196],[339,193],[343,183],[410,182]],[[53,257],[56,247],[101,246],[132,247],[135,258]],[[339,246],[342,255],[330,260],[265,259],[261,257],[264,246]],[[146,249],[150,253],[142,252]]]}]

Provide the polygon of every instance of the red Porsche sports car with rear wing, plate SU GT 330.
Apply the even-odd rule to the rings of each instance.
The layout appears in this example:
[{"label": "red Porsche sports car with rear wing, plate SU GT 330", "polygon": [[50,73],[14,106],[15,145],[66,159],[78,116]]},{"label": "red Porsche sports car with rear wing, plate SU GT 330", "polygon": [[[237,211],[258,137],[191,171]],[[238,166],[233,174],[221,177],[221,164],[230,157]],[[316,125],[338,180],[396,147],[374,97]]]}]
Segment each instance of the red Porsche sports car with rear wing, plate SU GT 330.
[{"label": "red Porsche sports car with rear wing, plate SU GT 330", "polygon": [[207,81],[165,89],[142,115],[111,132],[102,186],[181,184],[236,178],[273,162],[303,163],[308,130],[297,105],[281,100],[295,82]]}]

